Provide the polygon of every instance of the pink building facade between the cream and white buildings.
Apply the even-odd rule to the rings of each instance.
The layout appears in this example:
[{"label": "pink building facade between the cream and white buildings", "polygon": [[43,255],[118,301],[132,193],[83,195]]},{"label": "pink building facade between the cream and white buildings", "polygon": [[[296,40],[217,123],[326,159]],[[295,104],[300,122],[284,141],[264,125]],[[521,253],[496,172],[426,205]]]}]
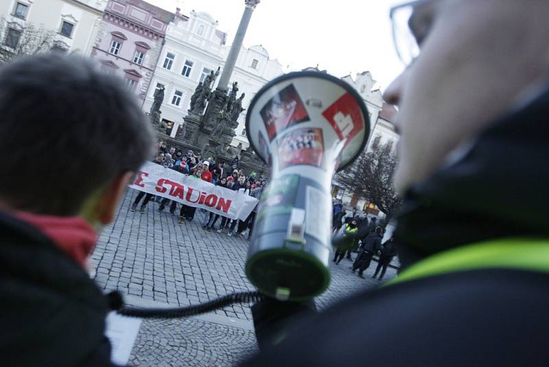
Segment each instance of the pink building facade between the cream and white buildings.
[{"label": "pink building facade between the cream and white buildings", "polygon": [[92,57],[145,100],[174,14],[143,0],[109,0]]}]

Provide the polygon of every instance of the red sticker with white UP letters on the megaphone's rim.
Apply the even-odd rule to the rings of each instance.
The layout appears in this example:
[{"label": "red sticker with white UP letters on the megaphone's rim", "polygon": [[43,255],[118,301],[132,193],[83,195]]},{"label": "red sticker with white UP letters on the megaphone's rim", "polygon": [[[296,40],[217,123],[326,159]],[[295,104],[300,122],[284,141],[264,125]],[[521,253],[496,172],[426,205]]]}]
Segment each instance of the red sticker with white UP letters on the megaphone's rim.
[{"label": "red sticker with white UP letters on the megaphone's rim", "polygon": [[345,141],[344,146],[347,146],[364,127],[360,106],[349,93],[336,100],[322,115],[334,128],[340,140]]}]

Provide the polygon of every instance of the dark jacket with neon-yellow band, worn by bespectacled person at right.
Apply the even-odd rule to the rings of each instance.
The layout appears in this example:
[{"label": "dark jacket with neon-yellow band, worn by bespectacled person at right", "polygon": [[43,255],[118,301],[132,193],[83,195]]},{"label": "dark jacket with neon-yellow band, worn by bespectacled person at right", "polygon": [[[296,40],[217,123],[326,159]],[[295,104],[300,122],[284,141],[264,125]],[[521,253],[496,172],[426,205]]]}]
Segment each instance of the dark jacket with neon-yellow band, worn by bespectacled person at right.
[{"label": "dark jacket with neon-yellow band, worn by bespectacled person at right", "polygon": [[[404,267],[479,241],[549,238],[548,115],[549,92],[410,189],[394,234]],[[294,321],[244,366],[548,366],[548,289],[549,274],[509,268],[388,285]]]}]

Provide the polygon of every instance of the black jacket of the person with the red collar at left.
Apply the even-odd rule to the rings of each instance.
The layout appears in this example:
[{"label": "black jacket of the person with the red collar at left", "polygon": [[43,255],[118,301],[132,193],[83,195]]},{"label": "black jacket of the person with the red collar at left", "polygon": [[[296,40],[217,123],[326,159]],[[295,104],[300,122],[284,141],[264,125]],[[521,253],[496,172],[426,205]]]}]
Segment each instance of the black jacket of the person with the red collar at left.
[{"label": "black jacket of the person with the red collar at left", "polygon": [[111,366],[106,297],[42,232],[1,212],[0,299],[2,366]]}]

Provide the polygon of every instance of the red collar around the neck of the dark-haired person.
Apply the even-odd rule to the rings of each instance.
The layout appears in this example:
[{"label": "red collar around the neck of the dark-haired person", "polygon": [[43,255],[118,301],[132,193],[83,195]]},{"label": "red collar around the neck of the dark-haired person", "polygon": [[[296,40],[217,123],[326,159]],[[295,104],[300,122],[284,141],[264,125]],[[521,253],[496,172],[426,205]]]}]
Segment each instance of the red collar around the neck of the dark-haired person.
[{"label": "red collar around the neck of the dark-haired person", "polygon": [[82,268],[86,268],[86,259],[93,251],[97,234],[84,219],[78,216],[51,216],[29,212],[15,212],[14,216],[38,228],[65,254]]}]

